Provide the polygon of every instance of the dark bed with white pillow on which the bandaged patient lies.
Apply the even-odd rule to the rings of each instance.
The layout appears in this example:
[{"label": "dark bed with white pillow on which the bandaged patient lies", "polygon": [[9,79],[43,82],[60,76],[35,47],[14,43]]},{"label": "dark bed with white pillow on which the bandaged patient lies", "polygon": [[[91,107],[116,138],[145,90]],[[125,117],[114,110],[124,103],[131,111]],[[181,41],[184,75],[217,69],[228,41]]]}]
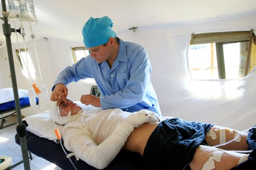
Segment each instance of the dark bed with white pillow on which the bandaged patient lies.
[{"label": "dark bed with white pillow on which the bandaged patient lies", "polygon": [[[54,163],[62,170],[74,170],[62,150],[59,140],[56,139],[53,131],[55,127],[50,119],[49,111],[26,117],[23,120],[26,120],[28,123],[26,128],[26,140],[29,152]],[[63,126],[59,124],[56,125],[61,132]],[[15,140],[16,143],[20,145],[18,134],[16,134]],[[66,152],[67,154],[70,153],[67,150]],[[78,170],[97,170],[82,160],[77,161],[75,156],[70,157],[70,159]],[[142,158],[138,153],[120,151],[106,170],[143,170]]]}]

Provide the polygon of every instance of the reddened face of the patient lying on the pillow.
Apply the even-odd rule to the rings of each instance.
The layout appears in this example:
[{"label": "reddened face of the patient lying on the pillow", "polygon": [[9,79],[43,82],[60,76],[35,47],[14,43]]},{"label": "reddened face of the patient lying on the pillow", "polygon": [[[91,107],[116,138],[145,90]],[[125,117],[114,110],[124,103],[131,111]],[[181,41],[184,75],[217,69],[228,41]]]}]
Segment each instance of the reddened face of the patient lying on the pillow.
[{"label": "reddened face of the patient lying on the pillow", "polygon": [[78,104],[70,100],[68,100],[67,103],[61,102],[59,104],[59,114],[60,116],[63,116],[63,117],[68,116],[69,111],[71,111],[71,116],[73,116],[78,114],[80,110],[82,110],[82,108]]}]

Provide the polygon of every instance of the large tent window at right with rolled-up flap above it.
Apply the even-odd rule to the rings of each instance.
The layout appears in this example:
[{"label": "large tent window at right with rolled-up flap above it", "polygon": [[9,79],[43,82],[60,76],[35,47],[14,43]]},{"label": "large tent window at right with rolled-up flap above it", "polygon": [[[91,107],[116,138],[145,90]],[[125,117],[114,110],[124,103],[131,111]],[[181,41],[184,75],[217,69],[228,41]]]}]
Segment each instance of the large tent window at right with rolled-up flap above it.
[{"label": "large tent window at right with rolled-up flap above it", "polygon": [[188,64],[193,79],[238,79],[256,65],[251,31],[192,34]]}]

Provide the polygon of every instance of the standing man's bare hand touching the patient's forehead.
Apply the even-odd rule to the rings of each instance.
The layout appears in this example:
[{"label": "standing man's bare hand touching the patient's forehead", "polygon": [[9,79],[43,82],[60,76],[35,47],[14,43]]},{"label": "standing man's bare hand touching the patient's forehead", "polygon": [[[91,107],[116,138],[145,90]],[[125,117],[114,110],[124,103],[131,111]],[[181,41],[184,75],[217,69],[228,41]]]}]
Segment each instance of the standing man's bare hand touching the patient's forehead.
[{"label": "standing man's bare hand touching the patient's forehead", "polygon": [[67,95],[68,95],[68,88],[63,84],[57,84],[55,85],[55,88],[51,94],[51,101],[56,102],[57,105],[60,104],[60,102],[67,103]]}]

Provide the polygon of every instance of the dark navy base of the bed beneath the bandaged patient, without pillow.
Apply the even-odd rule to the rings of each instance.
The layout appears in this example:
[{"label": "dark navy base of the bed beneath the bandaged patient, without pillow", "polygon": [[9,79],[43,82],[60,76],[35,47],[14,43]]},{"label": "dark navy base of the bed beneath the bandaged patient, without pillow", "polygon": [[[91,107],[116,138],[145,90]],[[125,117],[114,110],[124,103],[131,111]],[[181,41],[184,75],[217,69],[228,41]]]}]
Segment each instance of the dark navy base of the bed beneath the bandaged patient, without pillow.
[{"label": "dark navy base of the bed beneath the bandaged patient, without pillow", "polygon": [[[62,170],[74,170],[74,167],[68,158],[66,158],[60,144],[57,144],[52,140],[36,136],[29,131],[26,131],[26,140],[29,152],[48,160]],[[20,138],[18,134],[15,136],[15,141],[20,145]],[[70,153],[67,150],[66,152]],[[75,156],[72,156],[70,159],[78,170],[97,170],[82,160],[76,161]],[[104,170],[143,170],[142,157],[138,153],[120,151],[117,157]]]}]

